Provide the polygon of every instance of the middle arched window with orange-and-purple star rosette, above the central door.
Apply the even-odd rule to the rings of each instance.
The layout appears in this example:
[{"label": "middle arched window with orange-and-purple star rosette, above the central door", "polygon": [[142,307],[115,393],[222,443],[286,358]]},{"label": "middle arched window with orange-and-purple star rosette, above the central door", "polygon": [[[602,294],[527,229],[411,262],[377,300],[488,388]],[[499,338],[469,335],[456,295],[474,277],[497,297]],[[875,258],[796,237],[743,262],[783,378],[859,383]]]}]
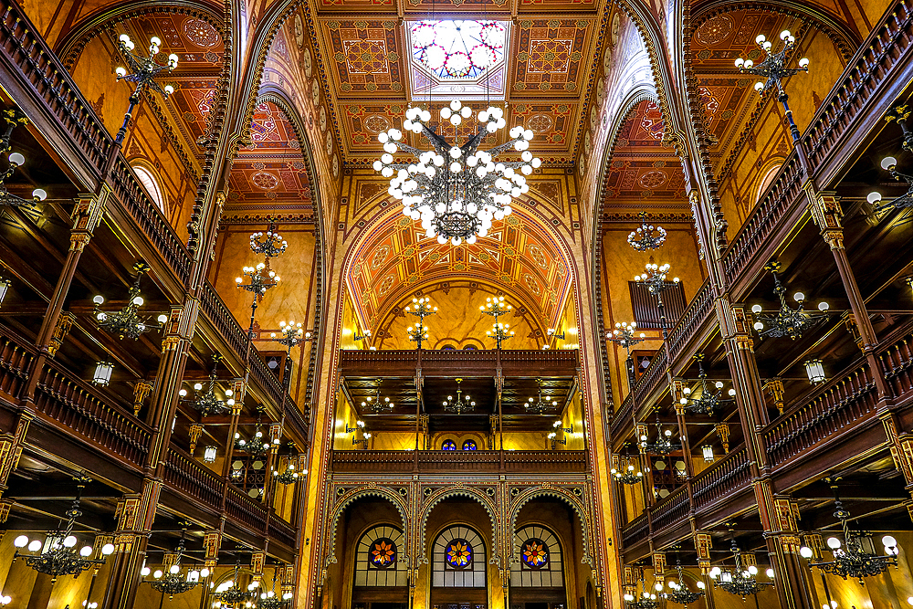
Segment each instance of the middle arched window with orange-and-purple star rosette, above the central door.
[{"label": "middle arched window with orange-and-purple star rosette, above the central door", "polygon": [[488,559],[485,544],[476,530],[456,525],[437,536],[434,545],[436,587],[484,588]]}]

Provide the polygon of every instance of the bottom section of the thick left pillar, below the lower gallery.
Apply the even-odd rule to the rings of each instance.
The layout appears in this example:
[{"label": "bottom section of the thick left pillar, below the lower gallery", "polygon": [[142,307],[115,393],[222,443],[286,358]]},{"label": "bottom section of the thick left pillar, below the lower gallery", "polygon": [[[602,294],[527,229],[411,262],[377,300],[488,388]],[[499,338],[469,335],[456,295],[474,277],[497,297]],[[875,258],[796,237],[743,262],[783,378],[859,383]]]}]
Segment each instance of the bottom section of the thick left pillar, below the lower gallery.
[{"label": "bottom section of the thick left pillar, below the lower gallery", "polygon": [[135,606],[142,578],[140,571],[146,559],[146,546],[161,490],[161,481],[146,478],[142,483],[142,493],[126,495],[118,501],[114,512],[118,521],[114,531],[115,550],[109,559],[108,589],[105,590],[101,609],[132,609]]}]

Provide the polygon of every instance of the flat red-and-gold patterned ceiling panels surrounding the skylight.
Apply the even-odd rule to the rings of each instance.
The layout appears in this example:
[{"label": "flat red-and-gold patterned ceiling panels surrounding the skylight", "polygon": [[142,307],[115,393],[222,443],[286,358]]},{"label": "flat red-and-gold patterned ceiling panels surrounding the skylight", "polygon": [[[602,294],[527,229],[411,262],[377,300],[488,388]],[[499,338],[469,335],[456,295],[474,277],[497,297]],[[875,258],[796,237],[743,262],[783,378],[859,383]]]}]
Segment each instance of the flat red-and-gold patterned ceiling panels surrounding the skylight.
[{"label": "flat red-and-gold patterned ceiling panels surrounding the skylight", "polygon": [[[321,0],[313,6],[331,120],[349,166],[373,163],[382,152],[377,133],[400,128],[410,102],[428,105],[427,93],[415,92],[410,76],[415,53],[408,29],[416,21],[430,18],[433,4],[425,0],[346,0],[343,9],[341,2]],[[436,10],[445,11],[441,16],[449,19],[482,18],[478,13],[481,2],[436,4]],[[508,129],[523,125],[532,130],[532,150],[544,163],[570,165],[576,156],[593,58],[602,41],[600,4],[592,0],[484,3],[485,20],[509,22],[504,66],[489,70],[489,87],[503,89],[504,100],[491,97],[470,105],[474,110],[483,109],[490,101],[506,108]],[[366,10],[360,10],[362,7]],[[572,18],[555,17],[568,13]],[[419,89],[427,89],[428,75],[423,74],[422,79],[415,79]],[[432,100],[430,105],[436,110],[444,103]]]}]

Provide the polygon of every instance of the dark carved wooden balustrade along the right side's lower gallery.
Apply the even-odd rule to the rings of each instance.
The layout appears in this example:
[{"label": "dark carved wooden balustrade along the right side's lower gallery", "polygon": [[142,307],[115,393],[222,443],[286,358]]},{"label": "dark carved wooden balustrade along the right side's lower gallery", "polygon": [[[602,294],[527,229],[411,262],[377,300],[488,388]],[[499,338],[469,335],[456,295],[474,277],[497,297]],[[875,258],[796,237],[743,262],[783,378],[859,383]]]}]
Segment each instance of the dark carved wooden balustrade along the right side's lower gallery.
[{"label": "dark carved wooden balustrade along the right side's lower gallery", "polygon": [[[887,380],[890,401],[907,412],[913,407],[913,333],[897,332],[899,338],[887,340],[876,350],[877,360]],[[887,403],[886,403],[887,404]],[[878,420],[879,404],[876,384],[865,357],[860,357],[845,371],[823,383],[813,393],[804,395],[786,412],[761,429],[761,448],[766,451],[774,488],[789,493],[808,479],[818,478],[835,467],[841,467],[848,454],[840,450],[818,450],[820,446],[853,443],[853,455],[887,447],[887,436]],[[663,544],[690,534],[687,522],[689,508],[698,523],[712,512],[719,521],[750,509],[753,505],[748,454],[744,446],[733,449],[712,466],[687,481],[693,505],[687,504],[687,492],[678,488],[672,495],[647,511],[653,523],[655,541]],[[741,500],[734,500],[740,495]],[[685,499],[682,499],[684,497]],[[622,537],[625,561],[635,560],[646,546],[647,511],[624,526]],[[662,529],[677,526],[675,535],[656,539]]]}]

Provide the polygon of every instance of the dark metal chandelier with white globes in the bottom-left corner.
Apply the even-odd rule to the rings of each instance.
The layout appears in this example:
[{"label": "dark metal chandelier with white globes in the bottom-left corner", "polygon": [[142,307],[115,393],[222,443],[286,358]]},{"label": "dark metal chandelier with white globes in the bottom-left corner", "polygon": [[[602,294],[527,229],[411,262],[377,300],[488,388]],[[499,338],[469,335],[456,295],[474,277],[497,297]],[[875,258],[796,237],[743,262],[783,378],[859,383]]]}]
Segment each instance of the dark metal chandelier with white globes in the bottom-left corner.
[{"label": "dark metal chandelier with white globes in the bottom-left corner", "polygon": [[[79,542],[73,535],[73,525],[76,519],[82,516],[82,510],[79,509],[79,500],[82,499],[82,490],[86,488],[89,482],[86,478],[79,478],[79,492],[73,505],[66,512],[67,526],[63,530],[55,530],[48,533],[45,541],[29,540],[25,535],[19,535],[13,541],[16,552],[13,554],[13,560],[25,558],[26,564],[39,573],[51,576],[51,583],[57,582],[60,575],[73,575],[79,577],[79,573],[89,570],[91,567],[97,567],[104,564],[105,558],[114,551],[113,544],[106,543],[101,548],[102,558],[91,559],[89,556],[95,549],[86,545],[79,551],[76,550],[76,544]],[[40,554],[19,553],[19,550],[27,548],[28,551],[39,551],[44,548]]]}]

